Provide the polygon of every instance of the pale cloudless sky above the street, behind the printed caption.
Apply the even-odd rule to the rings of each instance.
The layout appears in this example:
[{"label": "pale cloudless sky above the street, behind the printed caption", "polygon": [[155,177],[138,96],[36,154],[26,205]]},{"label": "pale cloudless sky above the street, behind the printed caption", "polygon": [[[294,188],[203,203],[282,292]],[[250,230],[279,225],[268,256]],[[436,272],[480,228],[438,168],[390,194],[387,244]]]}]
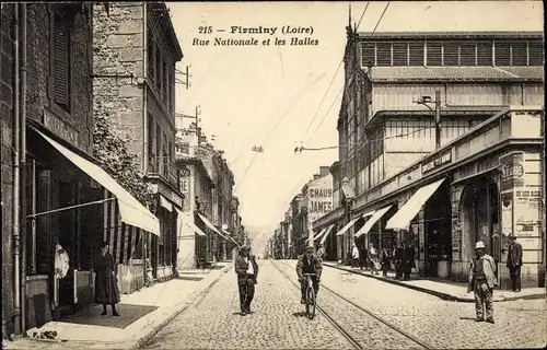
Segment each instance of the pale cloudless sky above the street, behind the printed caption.
[{"label": "pale cloudless sky above the street, behind the printed caption", "polygon": [[[235,176],[240,214],[257,249],[319,166],[338,159],[336,149],[294,154],[294,148],[338,144],[344,65],[337,68],[349,4],[360,32],[373,32],[376,25],[376,32],[543,31],[540,1],[392,1],[385,10],[387,3],[371,1],[366,11],[364,1],[167,3],[184,54],[177,69],[189,66],[190,71],[190,86],[177,84],[176,110],[194,115],[200,105],[201,127],[224,151]],[[313,33],[279,33],[286,25],[312,27]],[[200,34],[200,26],[211,26],[212,33]],[[275,35],[231,34],[232,26],[278,30]],[[318,45],[274,45],[275,37],[292,36],[317,39]],[[256,38],[259,45],[193,45],[216,37]],[[270,45],[261,45],[268,37]],[[253,145],[263,145],[264,153],[253,152]]]}]

